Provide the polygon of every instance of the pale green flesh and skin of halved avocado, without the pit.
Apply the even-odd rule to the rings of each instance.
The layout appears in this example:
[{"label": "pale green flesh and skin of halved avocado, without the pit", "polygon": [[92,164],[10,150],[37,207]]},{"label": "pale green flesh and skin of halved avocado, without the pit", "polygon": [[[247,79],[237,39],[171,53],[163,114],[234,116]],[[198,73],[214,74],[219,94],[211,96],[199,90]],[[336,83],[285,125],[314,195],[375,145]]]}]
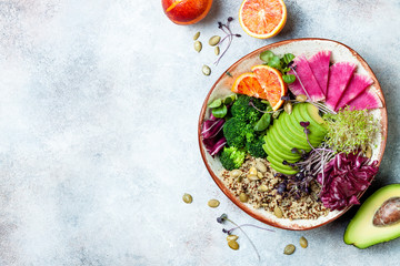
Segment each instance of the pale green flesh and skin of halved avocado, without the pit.
[{"label": "pale green flesh and skin of halved avocado, without the pit", "polygon": [[[344,233],[344,243],[358,248],[367,248],[400,237],[400,221],[383,226],[373,224],[377,211],[382,204],[398,197],[400,197],[400,184],[383,186],[368,197],[349,223]],[[397,209],[400,212],[399,208]]]}]

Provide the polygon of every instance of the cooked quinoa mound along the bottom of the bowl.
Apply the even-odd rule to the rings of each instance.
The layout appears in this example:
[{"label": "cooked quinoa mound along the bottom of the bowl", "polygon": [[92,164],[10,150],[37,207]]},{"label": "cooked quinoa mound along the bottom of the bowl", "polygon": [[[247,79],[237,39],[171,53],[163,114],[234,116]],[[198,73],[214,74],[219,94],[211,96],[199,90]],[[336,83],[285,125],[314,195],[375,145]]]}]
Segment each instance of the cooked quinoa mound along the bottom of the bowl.
[{"label": "cooked quinoa mound along the bottom of the bowl", "polygon": [[330,209],[318,201],[318,182],[311,184],[309,195],[302,195],[298,200],[292,196],[282,198],[276,188],[280,178],[274,176],[276,171],[269,165],[264,158],[248,155],[239,170],[224,170],[221,177],[226,186],[242,202],[247,201],[254,208],[264,208],[279,218],[317,219],[328,215]]}]

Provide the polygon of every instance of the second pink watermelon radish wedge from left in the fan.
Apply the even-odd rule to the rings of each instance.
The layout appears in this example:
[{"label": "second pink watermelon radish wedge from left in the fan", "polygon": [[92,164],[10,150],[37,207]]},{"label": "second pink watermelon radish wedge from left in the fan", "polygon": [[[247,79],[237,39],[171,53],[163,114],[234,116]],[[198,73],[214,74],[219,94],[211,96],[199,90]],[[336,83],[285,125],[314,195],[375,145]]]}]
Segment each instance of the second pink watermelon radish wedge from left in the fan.
[{"label": "second pink watermelon radish wedge from left in the fan", "polygon": [[327,95],[328,88],[330,55],[331,51],[320,51],[308,60],[311,71],[324,95]]}]

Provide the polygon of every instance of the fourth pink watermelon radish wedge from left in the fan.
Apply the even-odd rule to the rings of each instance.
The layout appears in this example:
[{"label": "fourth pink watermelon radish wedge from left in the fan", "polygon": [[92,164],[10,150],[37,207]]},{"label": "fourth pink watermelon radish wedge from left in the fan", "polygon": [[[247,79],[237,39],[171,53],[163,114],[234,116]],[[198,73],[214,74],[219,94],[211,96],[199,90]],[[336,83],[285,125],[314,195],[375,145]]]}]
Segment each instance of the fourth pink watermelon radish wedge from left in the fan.
[{"label": "fourth pink watermelon radish wedge from left in the fan", "polygon": [[348,88],[346,89],[341,100],[336,106],[334,111],[344,108],[353,99],[363,93],[369,85],[373,83],[372,79],[367,75],[353,74]]}]

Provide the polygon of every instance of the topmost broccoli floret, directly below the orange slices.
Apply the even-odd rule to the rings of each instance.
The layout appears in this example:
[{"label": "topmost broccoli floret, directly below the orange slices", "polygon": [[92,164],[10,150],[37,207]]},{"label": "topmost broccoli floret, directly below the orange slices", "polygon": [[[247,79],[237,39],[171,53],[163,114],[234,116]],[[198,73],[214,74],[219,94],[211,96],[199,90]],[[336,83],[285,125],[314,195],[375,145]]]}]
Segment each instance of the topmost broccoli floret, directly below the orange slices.
[{"label": "topmost broccoli floret, directly below the orange slices", "polygon": [[250,98],[248,95],[239,95],[238,99],[233,102],[230,112],[233,117],[240,119],[247,123],[254,123],[257,122],[262,113],[254,109],[251,104],[259,110],[266,110],[267,105],[261,103],[260,99]]}]

